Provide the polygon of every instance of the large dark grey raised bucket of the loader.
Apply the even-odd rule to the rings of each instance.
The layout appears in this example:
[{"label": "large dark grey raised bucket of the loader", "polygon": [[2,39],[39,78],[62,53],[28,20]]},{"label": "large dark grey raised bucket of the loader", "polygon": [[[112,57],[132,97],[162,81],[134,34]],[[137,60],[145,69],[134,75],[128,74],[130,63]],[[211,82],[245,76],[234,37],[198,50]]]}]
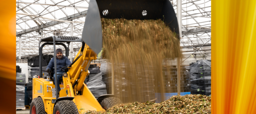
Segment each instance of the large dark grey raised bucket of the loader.
[{"label": "large dark grey raised bucket of the loader", "polygon": [[162,19],[172,31],[179,34],[177,17],[169,0],[90,0],[82,40],[97,54],[102,50],[101,18]]}]

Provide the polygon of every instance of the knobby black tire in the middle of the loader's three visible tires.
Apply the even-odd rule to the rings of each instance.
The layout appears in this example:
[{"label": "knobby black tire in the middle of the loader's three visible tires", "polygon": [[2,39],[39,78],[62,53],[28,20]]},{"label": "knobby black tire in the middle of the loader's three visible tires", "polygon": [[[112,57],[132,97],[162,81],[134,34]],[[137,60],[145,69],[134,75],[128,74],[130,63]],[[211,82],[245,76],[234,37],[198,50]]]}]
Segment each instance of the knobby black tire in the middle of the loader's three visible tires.
[{"label": "knobby black tire in the middle of the loader's three visible tires", "polygon": [[77,110],[77,106],[73,101],[63,100],[63,101],[57,102],[57,104],[53,109],[53,114],[79,114],[79,113]]}]

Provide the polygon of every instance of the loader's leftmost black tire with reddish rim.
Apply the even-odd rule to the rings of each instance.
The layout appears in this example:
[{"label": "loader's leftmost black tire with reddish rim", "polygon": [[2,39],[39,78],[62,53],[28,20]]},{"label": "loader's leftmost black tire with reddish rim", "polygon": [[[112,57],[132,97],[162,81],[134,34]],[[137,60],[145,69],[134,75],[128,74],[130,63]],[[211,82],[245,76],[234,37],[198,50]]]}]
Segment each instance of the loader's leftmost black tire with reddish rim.
[{"label": "loader's leftmost black tire with reddish rim", "polygon": [[29,114],[47,114],[42,98],[38,97],[33,99],[30,105]]}]

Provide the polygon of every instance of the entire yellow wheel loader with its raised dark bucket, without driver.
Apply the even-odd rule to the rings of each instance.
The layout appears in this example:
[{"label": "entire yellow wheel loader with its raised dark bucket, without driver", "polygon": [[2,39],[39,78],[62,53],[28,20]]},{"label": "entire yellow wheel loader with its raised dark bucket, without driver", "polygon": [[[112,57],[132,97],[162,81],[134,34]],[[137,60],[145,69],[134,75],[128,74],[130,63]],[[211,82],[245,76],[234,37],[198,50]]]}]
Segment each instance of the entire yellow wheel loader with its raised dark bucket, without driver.
[{"label": "entire yellow wheel loader with its raised dark bucket, without driver", "polygon": [[[89,75],[89,64],[97,59],[97,54],[102,50],[101,18],[162,19],[172,31],[179,34],[177,17],[169,0],[90,0],[82,37],[49,36],[39,41],[40,69],[38,78],[33,78],[30,114],[82,114],[85,110],[104,112],[121,102],[114,94],[104,94],[96,99],[84,83]],[[82,46],[73,62],[61,68],[65,72],[57,74],[56,45],[62,45],[68,57],[70,42],[81,42]],[[54,79],[53,73],[47,78],[43,77],[42,49],[45,45],[53,45],[53,73],[62,75],[62,83],[57,83],[57,76]],[[63,88],[59,94],[56,84]]]}]

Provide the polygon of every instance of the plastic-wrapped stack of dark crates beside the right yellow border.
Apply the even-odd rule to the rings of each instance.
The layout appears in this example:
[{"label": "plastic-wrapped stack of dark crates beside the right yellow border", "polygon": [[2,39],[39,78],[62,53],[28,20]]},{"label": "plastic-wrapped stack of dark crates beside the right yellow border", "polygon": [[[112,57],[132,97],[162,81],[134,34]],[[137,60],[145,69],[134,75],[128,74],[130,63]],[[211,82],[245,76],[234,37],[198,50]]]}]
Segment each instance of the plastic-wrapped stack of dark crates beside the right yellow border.
[{"label": "plastic-wrapped stack of dark crates beside the right yellow border", "polygon": [[211,61],[190,64],[191,94],[211,94]]}]

